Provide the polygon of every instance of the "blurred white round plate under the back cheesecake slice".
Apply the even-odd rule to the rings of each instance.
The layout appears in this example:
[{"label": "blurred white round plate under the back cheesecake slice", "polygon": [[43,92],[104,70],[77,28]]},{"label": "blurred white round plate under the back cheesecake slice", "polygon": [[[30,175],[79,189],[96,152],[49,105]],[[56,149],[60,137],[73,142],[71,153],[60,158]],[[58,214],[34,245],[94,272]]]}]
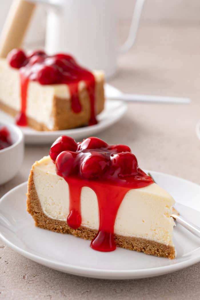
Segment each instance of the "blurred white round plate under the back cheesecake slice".
[{"label": "blurred white round plate under the back cheesecake slice", "polygon": [[[53,143],[60,135],[68,135],[74,139],[80,139],[97,134],[116,123],[127,110],[127,104],[119,100],[106,100],[105,109],[97,116],[98,124],[74,129],[59,131],[36,131],[30,127],[20,127],[27,144]],[[0,111],[2,122],[14,123],[14,118]]]}]

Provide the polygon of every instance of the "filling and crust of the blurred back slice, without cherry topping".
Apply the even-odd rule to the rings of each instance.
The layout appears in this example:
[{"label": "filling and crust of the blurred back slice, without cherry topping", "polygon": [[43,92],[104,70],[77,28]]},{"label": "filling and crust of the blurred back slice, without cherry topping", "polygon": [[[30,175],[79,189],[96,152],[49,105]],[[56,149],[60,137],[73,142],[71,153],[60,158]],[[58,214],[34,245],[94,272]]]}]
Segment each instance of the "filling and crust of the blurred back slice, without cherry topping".
[{"label": "filling and crust of the blurred back slice, without cherry topping", "polygon": [[[95,108],[96,115],[98,115],[104,109],[104,73],[100,70],[94,70],[93,74],[96,85]],[[19,70],[11,68],[6,59],[1,58],[0,110],[13,117],[20,110],[19,87]],[[44,99],[42,99],[42,93],[44,93]],[[10,103],[8,101],[9,97],[12,97]],[[40,85],[38,82],[30,81],[27,97],[28,126],[37,131],[56,131],[77,128],[87,124],[90,119],[91,108],[84,81],[79,82],[79,100],[82,111],[74,113],[71,109],[71,99],[67,85]]]}]

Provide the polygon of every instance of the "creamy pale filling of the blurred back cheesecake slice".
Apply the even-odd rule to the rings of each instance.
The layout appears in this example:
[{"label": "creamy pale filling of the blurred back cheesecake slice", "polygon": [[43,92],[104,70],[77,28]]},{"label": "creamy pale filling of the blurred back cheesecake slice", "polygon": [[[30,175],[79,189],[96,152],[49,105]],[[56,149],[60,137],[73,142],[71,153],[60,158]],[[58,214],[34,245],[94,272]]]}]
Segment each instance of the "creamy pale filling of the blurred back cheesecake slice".
[{"label": "creamy pale filling of the blurred back cheesecake slice", "polygon": [[[16,111],[21,109],[19,70],[11,68],[5,59],[0,59],[0,101]],[[101,71],[94,71],[96,82],[103,80]],[[79,92],[85,88],[85,82],[79,82]],[[26,115],[49,130],[54,127],[52,119],[54,97],[69,99],[70,91],[66,84],[40,85],[36,81],[28,84]]]}]

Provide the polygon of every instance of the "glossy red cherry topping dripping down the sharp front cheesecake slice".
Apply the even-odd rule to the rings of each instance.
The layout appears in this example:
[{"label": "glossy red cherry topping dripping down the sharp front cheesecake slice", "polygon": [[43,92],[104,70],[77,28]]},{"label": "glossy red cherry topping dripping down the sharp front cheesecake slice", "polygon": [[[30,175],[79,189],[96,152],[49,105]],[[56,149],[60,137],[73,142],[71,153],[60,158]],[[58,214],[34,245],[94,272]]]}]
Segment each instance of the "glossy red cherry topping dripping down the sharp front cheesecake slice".
[{"label": "glossy red cherry topping dripping down the sharp front cheesecake slice", "polygon": [[152,184],[151,177],[138,167],[128,146],[108,145],[96,137],[76,143],[71,137],[61,136],[52,144],[49,155],[56,173],[69,186],[67,224],[73,229],[81,225],[81,189],[90,187],[99,206],[99,230],[91,247],[104,252],[115,250],[114,225],[120,204],[129,190]]}]

